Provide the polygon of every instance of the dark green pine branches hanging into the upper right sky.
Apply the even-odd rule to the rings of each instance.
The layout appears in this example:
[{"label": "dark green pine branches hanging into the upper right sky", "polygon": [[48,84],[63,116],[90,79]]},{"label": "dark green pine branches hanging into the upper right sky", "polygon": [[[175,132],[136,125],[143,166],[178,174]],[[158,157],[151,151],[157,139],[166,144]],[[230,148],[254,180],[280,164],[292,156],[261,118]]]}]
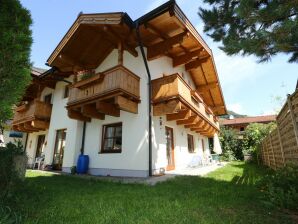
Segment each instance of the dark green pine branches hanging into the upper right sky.
[{"label": "dark green pine branches hanging into the upper right sky", "polygon": [[226,54],[255,55],[259,62],[277,53],[298,62],[297,0],[204,0],[199,9],[204,31]]}]

